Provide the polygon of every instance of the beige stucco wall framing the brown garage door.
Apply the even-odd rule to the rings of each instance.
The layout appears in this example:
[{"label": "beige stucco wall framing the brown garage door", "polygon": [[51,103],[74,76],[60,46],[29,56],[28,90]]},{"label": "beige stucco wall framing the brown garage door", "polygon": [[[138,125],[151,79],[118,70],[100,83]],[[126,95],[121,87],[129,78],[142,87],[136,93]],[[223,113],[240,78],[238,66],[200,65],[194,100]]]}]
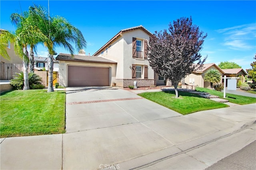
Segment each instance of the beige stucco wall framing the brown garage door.
[{"label": "beige stucco wall framing the brown garage door", "polygon": [[86,63],[74,61],[59,61],[59,82],[61,86],[68,86],[68,65],[72,66],[96,66],[96,67],[110,67],[110,85],[116,80],[116,64],[103,63]]}]

